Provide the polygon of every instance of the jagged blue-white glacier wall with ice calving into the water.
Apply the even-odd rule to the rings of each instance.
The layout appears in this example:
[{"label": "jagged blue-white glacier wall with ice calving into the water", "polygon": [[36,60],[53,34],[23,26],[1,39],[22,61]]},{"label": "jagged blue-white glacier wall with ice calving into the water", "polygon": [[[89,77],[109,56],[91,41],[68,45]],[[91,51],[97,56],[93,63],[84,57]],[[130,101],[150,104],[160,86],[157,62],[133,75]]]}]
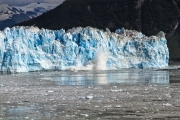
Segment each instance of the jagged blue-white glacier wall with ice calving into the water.
[{"label": "jagged blue-white glacier wall with ice calving into the water", "polygon": [[164,68],[169,52],[163,32],[146,37],[92,27],[48,30],[13,27],[0,32],[0,67],[5,72]]}]

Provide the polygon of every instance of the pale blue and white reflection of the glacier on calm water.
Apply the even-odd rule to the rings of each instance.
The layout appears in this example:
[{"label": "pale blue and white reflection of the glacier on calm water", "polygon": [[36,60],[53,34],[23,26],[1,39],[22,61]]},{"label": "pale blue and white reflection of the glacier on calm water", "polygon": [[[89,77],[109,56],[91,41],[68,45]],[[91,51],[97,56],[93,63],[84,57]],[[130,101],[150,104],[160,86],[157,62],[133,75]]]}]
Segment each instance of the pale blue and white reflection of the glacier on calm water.
[{"label": "pale blue and white reflection of the glacier on calm water", "polygon": [[51,80],[58,85],[169,84],[169,71],[66,71],[44,74],[39,79]]}]

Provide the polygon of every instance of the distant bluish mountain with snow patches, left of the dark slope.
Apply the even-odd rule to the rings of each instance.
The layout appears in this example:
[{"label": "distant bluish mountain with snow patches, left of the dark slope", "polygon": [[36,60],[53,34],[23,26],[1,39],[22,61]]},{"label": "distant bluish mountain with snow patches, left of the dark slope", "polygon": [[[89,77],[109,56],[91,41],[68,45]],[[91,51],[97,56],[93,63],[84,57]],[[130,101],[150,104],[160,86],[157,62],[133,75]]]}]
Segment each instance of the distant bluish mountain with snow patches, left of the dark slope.
[{"label": "distant bluish mountain with snow patches, left of the dark slope", "polygon": [[31,3],[26,6],[9,6],[8,4],[1,4],[0,30],[37,17],[56,6],[57,4],[50,3]]}]

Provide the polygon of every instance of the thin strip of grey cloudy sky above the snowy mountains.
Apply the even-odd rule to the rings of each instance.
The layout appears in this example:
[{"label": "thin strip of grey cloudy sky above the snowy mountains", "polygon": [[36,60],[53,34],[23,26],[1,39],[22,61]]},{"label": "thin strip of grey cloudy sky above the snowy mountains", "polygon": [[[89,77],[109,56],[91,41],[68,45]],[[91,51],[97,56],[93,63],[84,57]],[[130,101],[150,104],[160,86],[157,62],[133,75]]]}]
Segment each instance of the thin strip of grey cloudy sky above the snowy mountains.
[{"label": "thin strip of grey cloudy sky above the snowy mountains", "polygon": [[26,5],[32,2],[50,2],[50,3],[62,3],[64,0],[0,0],[0,4],[9,5]]}]

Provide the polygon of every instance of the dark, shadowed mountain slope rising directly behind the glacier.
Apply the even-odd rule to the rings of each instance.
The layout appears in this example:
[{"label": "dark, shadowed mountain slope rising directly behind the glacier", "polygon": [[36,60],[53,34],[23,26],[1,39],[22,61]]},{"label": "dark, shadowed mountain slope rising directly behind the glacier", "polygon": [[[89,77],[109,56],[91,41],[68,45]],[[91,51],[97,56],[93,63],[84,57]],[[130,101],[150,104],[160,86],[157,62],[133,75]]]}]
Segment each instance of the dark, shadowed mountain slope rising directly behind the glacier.
[{"label": "dark, shadowed mountain slope rising directly behind the glacier", "polygon": [[30,21],[48,29],[92,26],[115,30],[125,27],[145,35],[164,31],[171,59],[180,58],[180,0],[66,0],[63,4]]}]

